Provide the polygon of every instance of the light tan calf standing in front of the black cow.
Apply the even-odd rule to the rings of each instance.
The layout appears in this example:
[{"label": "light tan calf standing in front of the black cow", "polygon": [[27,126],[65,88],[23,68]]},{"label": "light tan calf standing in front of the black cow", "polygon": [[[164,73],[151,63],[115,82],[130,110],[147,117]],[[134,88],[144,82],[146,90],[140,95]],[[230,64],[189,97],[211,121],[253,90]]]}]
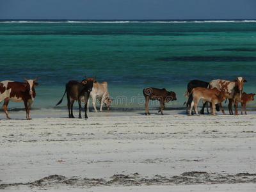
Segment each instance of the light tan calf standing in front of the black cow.
[{"label": "light tan calf standing in front of the black cow", "polygon": [[197,111],[197,104],[199,100],[201,99],[203,102],[211,102],[211,114],[216,115],[216,104],[221,103],[223,100],[225,100],[225,93],[220,92],[217,88],[208,89],[208,88],[202,88],[197,87],[193,88],[191,91],[193,101],[191,102],[189,115],[192,115],[192,109],[195,106],[196,115],[198,115]]}]

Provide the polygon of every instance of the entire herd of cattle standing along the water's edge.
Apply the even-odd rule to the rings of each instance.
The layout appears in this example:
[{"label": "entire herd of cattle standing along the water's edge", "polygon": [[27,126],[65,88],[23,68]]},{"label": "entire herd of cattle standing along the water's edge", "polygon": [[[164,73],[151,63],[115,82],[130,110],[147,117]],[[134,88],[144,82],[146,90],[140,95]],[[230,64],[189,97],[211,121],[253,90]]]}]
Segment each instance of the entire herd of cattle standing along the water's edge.
[{"label": "entire herd of cattle standing along the water's edge", "polygon": [[[67,93],[67,106],[68,106],[68,117],[74,118],[73,115],[73,104],[74,101],[78,101],[79,104],[79,118],[81,118],[81,102],[84,103],[84,118],[88,118],[88,104],[89,99],[92,97],[93,108],[97,112],[95,102],[97,99],[100,100],[100,111],[102,111],[102,106],[105,104],[106,109],[109,109],[109,105],[113,99],[109,97],[108,93],[108,83],[106,81],[99,83],[94,81],[96,77],[83,79],[83,81],[71,80],[66,84],[66,89],[63,94],[63,97]],[[35,86],[38,85],[35,81],[38,79],[28,80],[24,77],[26,83],[17,82],[17,81],[2,81],[0,83],[0,102],[4,100],[3,109],[6,114],[6,118],[11,119],[8,115],[7,106],[10,100],[14,102],[24,102],[24,106],[26,109],[26,118],[31,120],[29,115],[29,111],[31,109],[31,104],[36,97]],[[246,104],[253,99],[255,94],[243,93],[243,84],[247,81],[244,77],[236,77],[234,81],[227,81],[216,79],[207,83],[205,81],[193,80],[188,83],[188,89],[184,96],[188,96],[188,101],[186,104],[186,112],[188,114],[188,106],[189,106],[189,115],[193,115],[193,108],[195,108],[196,115],[198,115],[197,105],[199,100],[202,100],[204,103],[203,108],[200,113],[204,114],[204,108],[207,105],[207,102],[211,103],[211,114],[216,115],[216,110],[223,112],[225,115],[225,111],[222,108],[221,102],[224,100],[229,101],[228,109],[230,115],[238,115],[238,104],[241,102],[241,114],[246,113]],[[160,110],[161,115],[163,115],[163,109],[165,107],[166,102],[170,102],[173,100],[177,100],[175,92],[168,92],[165,88],[145,88],[143,90],[143,95],[145,97],[145,115],[150,115],[148,111],[148,102],[149,100],[159,100],[160,102]],[[62,100],[56,104],[58,106]],[[234,103],[235,114],[232,111],[232,104]],[[208,108],[207,108],[208,111]]]}]

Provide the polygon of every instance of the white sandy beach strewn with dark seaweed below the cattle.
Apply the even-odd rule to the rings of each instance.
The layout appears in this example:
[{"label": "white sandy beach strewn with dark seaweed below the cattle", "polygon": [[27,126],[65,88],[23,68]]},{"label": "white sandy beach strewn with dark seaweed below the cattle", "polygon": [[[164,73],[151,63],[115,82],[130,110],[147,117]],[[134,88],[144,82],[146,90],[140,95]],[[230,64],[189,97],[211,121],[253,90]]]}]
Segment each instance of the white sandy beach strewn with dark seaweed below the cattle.
[{"label": "white sandy beach strewn with dark seaweed below the cattle", "polygon": [[150,112],[2,111],[0,189],[256,191],[255,111]]}]

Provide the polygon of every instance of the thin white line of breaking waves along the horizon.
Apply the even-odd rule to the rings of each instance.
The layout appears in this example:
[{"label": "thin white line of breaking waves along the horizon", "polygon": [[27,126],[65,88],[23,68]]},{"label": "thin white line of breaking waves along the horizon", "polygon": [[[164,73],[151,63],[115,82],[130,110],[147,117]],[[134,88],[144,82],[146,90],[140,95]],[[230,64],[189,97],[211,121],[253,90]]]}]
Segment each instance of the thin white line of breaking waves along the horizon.
[{"label": "thin white line of breaking waves along the horizon", "polygon": [[256,20],[0,20],[0,23],[26,24],[26,23],[95,23],[95,24],[126,24],[126,23],[241,23],[256,22]]}]

